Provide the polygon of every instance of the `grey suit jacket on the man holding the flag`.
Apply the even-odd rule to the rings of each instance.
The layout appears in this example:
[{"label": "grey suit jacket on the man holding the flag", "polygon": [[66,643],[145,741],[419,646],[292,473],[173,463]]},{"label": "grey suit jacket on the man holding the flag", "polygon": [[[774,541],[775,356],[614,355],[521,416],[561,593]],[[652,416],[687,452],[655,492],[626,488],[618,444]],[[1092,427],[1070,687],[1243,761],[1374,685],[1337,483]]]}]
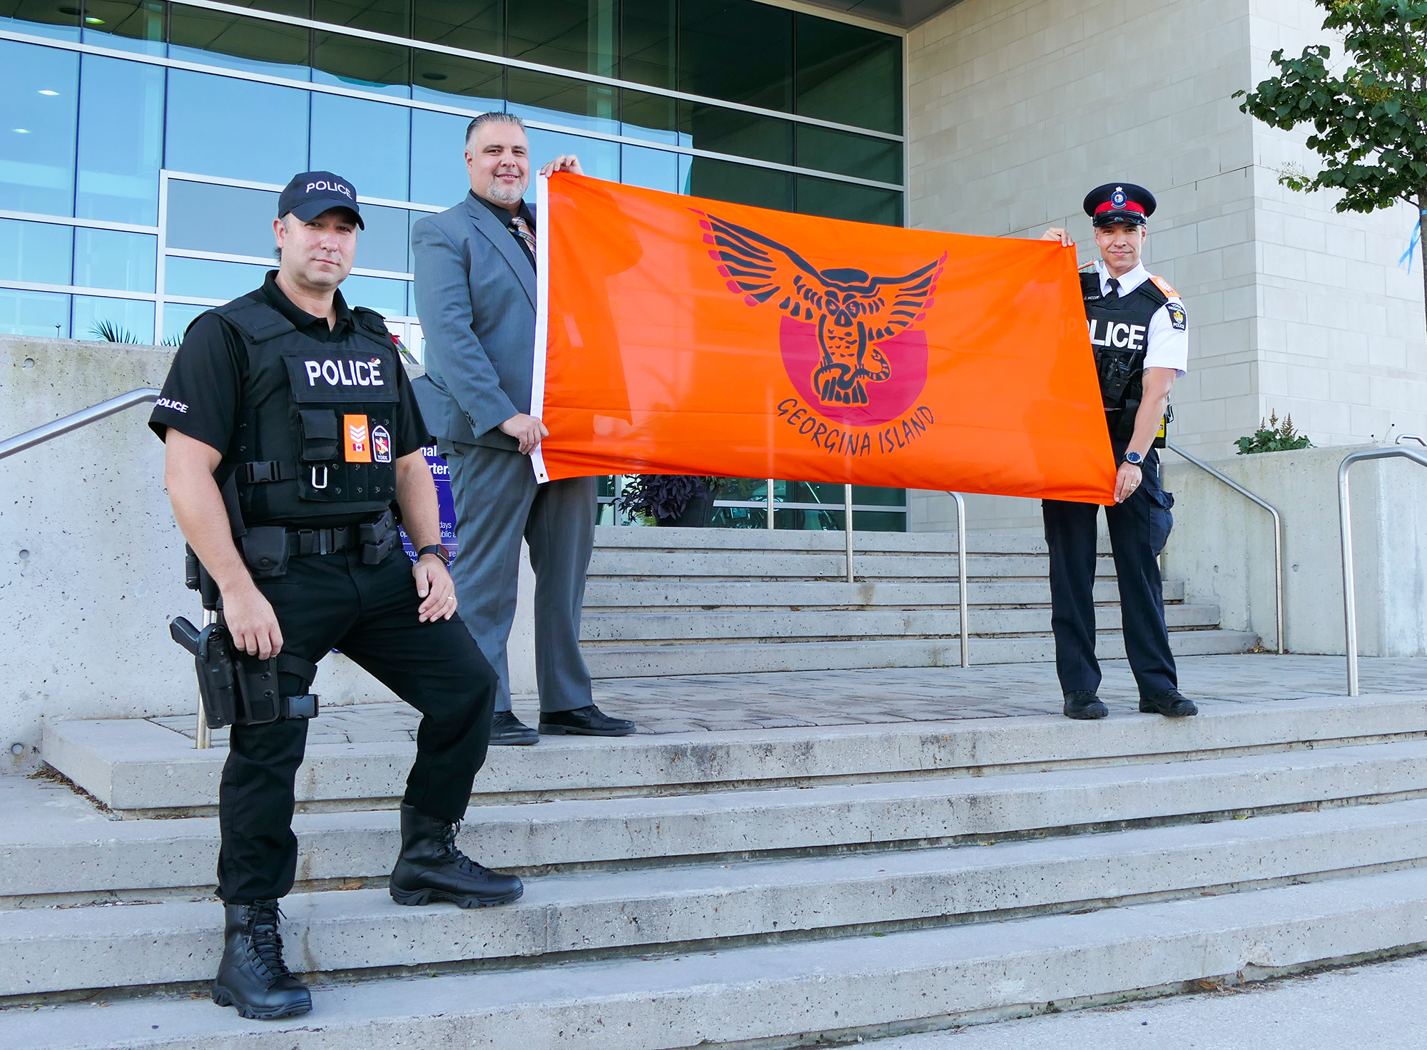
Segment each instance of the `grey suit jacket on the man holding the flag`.
[{"label": "grey suit jacket on the man holding the flag", "polygon": [[517,449],[495,429],[531,411],[535,268],[481,201],[411,230],[425,369],[412,387],[427,428],[447,441]]}]

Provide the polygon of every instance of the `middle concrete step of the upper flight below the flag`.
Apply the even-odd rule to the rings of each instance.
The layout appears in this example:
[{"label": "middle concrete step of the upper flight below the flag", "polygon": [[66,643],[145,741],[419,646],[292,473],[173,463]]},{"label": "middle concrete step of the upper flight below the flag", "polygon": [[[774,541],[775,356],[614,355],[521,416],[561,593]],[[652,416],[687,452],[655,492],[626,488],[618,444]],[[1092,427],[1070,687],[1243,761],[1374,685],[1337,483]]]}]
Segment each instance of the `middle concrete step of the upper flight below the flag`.
[{"label": "middle concrete step of the upper flight below the flag", "polygon": [[[818,581],[685,581],[679,578],[609,581],[591,579],[585,586],[585,615],[628,609],[863,609],[863,608],[955,608],[960,601],[956,579],[940,583],[889,583],[870,581],[845,583]],[[968,603],[976,609],[995,605],[1050,605],[1050,583],[1045,579],[969,579]],[[1095,601],[1120,601],[1113,579],[1097,579]],[[1164,601],[1184,601],[1184,583],[1164,581]]]}]

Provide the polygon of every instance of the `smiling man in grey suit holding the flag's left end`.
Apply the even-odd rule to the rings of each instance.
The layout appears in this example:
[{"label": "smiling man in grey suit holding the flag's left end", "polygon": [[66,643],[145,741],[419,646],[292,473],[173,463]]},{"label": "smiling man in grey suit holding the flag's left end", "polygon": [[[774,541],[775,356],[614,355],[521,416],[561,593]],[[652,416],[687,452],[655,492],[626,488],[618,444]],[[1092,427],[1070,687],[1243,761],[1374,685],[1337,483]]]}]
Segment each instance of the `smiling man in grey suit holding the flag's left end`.
[{"label": "smiling man in grey suit holding the flag's left end", "polygon": [[[499,676],[491,743],[539,733],[625,736],[634,723],[595,706],[579,653],[579,613],[595,529],[595,479],[535,484],[529,454],[548,432],[531,415],[535,352],[535,215],[525,126],[485,113],[465,137],[471,193],[411,231],[417,314],[425,337],[417,395],[451,465],[459,556],[451,566],[461,615]],[[541,173],[574,171],[559,157]],[[535,571],[539,733],[511,713],[505,656],[515,618],[521,538]]]}]

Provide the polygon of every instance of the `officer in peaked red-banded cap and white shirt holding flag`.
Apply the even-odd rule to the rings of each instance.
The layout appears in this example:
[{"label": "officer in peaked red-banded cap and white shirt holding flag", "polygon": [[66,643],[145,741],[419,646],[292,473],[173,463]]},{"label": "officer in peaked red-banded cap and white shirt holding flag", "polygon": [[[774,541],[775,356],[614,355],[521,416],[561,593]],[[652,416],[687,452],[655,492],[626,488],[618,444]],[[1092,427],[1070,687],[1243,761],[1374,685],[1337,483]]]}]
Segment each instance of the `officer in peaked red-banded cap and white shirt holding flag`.
[{"label": "officer in peaked red-banded cap and white shirt holding flag", "polygon": [[[1164,626],[1159,554],[1169,538],[1174,498],[1160,485],[1154,439],[1174,379],[1189,361],[1184,304],[1167,282],[1140,264],[1146,220],[1154,195],[1132,183],[1096,187],[1085,198],[1100,258],[1080,274],[1085,312],[1100,375],[1104,419],[1119,471],[1114,505],[1104,511],[1120,588],[1124,651],[1144,713],[1183,718],[1199,709],[1179,692],[1179,675]],[[1043,240],[1070,245],[1070,234],[1047,230]],[[1095,504],[1042,504],[1050,548],[1050,626],[1065,715],[1104,718],[1095,658]]]}]

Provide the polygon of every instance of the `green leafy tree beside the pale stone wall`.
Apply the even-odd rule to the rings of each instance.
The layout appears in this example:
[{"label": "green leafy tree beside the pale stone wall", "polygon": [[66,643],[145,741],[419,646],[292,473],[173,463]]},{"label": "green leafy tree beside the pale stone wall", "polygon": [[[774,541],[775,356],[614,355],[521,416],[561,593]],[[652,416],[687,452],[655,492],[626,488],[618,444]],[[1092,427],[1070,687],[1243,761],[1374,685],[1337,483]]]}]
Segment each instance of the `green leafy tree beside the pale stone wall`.
[{"label": "green leafy tree beside the pale stone wall", "polygon": [[[1280,173],[1291,190],[1339,190],[1339,211],[1376,211],[1407,201],[1427,220],[1427,0],[1316,0],[1323,29],[1341,33],[1347,64],[1330,68],[1327,44],[1297,58],[1273,53],[1279,76],[1264,80],[1240,108],[1291,130],[1313,124],[1307,146],[1323,158],[1309,175]],[[1427,231],[1423,231],[1427,234]],[[1423,237],[1427,250],[1427,235]],[[1427,260],[1423,265],[1427,295]]]}]

